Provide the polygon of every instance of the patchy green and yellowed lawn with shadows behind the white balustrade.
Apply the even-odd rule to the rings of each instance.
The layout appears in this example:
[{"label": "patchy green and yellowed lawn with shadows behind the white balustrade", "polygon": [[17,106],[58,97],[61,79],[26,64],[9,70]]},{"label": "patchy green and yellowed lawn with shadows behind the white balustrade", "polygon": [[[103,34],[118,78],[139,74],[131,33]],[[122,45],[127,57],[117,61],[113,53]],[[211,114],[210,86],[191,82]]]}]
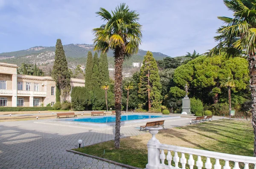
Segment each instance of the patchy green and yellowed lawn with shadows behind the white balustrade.
[{"label": "patchy green and yellowed lawn with shadows behind the white balustrade", "polygon": [[[160,143],[223,152],[234,155],[253,156],[253,128],[245,120],[216,120],[172,129],[161,130],[157,135]],[[148,163],[147,142],[151,134],[122,138],[120,149],[114,149],[113,141],[74,149],[89,155],[106,158],[119,163],[145,168]],[[105,152],[105,154],[104,154]],[[180,155],[179,155],[180,156]],[[188,155],[186,158],[188,159]],[[194,156],[194,160],[197,157]],[[202,158],[205,163],[205,158]],[[212,160],[212,166],[215,160]],[[224,161],[220,161],[224,166]],[[239,164],[243,168],[243,164]],[[231,168],[233,163],[230,162]],[[181,167],[181,165],[180,165]],[[195,167],[195,166],[194,166]],[[186,164],[186,168],[189,166]],[[253,168],[253,165],[250,165]]]}]

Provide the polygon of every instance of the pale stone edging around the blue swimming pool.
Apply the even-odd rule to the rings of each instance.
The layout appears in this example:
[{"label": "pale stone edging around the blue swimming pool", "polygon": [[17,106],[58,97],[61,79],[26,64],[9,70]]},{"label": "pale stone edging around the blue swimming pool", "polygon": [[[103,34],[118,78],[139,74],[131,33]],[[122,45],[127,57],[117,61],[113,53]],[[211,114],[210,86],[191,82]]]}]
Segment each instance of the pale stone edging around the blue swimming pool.
[{"label": "pale stone edging around the blue swimming pool", "polygon": [[[152,114],[129,114],[129,115],[152,115]],[[180,116],[168,116],[168,115],[161,115],[165,117],[157,117],[157,118],[151,118],[151,119],[138,119],[138,120],[128,120],[128,121],[121,121],[121,126],[137,126],[138,123],[145,123],[145,122],[151,122],[151,121],[158,121],[158,120],[173,120],[173,119],[178,119]],[[90,118],[91,116],[87,117]],[[106,116],[101,116],[101,117],[106,117]],[[110,117],[110,116],[107,116]],[[80,118],[86,118],[86,117],[80,117]],[[70,119],[78,119],[78,117],[73,117]],[[79,121],[71,121],[67,119],[55,119],[51,120],[52,122],[60,122],[60,123],[67,123],[67,124],[80,124],[84,126],[98,126],[98,127],[106,127],[106,126],[115,126],[116,122],[111,122],[111,123],[92,123],[92,122],[79,122]],[[132,125],[134,123],[134,125]]]}]

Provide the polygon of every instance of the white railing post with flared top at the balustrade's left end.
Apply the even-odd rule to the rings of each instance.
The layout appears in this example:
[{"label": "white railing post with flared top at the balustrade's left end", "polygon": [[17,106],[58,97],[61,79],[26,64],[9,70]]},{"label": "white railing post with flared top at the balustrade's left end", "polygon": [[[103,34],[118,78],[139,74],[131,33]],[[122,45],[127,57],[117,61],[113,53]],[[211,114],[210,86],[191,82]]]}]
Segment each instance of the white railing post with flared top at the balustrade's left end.
[{"label": "white railing post with flared top at the balustrade's left end", "polygon": [[160,165],[160,149],[157,149],[157,144],[159,144],[159,140],[155,137],[162,127],[147,127],[149,133],[152,135],[151,140],[148,141],[148,164],[146,165],[146,169],[158,169]]}]

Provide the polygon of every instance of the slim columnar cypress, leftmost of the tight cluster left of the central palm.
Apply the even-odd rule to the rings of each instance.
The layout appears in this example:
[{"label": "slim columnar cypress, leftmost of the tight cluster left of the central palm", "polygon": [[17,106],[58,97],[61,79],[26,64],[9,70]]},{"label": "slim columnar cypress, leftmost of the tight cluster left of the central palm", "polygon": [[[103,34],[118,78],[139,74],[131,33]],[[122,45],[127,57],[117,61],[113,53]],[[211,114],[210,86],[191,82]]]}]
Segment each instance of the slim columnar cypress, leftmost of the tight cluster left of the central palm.
[{"label": "slim columnar cypress, leftmost of the tight cluster left of the central palm", "polygon": [[92,90],[94,84],[92,83],[92,74],[93,74],[93,54],[88,52],[87,54],[87,63],[85,69],[85,88],[87,90]]}]

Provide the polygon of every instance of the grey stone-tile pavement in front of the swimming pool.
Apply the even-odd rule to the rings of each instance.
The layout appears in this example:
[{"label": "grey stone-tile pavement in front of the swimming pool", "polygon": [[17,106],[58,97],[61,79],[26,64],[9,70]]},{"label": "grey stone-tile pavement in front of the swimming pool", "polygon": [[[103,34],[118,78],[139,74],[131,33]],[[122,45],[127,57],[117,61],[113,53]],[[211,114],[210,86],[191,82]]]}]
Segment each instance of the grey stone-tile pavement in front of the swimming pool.
[{"label": "grey stone-tile pavement in front of the swimming pool", "polygon": [[[167,128],[183,126],[190,119],[165,124]],[[136,127],[121,128],[122,137],[144,133]],[[3,122],[0,123],[0,169],[121,169],[111,163],[66,152],[66,149],[76,148],[79,139],[87,146],[113,138],[114,128],[93,130],[70,124],[52,125],[47,120]]]}]

